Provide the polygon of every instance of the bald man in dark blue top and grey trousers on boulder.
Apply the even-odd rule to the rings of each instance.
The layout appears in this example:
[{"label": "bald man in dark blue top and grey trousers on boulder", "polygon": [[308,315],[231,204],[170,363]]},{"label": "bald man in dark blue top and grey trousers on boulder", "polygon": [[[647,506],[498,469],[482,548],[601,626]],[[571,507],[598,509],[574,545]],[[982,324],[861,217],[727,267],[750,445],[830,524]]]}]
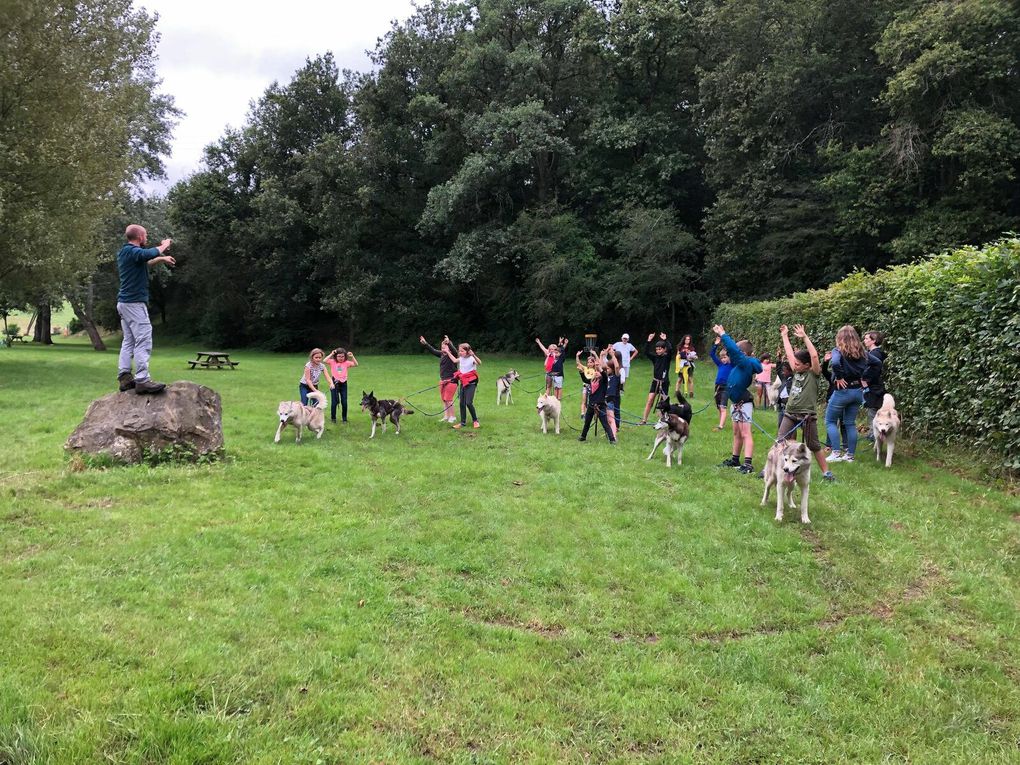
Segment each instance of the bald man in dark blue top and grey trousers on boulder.
[{"label": "bald man in dark blue top and grey trousers on boulder", "polygon": [[[117,382],[121,391],[135,389],[135,393],[160,393],[166,385],[155,382],[149,376],[149,355],[152,353],[152,323],[149,321],[149,269],[151,265],[176,261],[163,252],[173,243],[164,239],[159,247],[144,249],[146,231],[132,223],[124,232],[128,244],[117,253],[117,273],[120,274],[120,292],[117,293],[117,315],[124,340],[120,346]],[[135,374],[132,376],[132,359]]]}]

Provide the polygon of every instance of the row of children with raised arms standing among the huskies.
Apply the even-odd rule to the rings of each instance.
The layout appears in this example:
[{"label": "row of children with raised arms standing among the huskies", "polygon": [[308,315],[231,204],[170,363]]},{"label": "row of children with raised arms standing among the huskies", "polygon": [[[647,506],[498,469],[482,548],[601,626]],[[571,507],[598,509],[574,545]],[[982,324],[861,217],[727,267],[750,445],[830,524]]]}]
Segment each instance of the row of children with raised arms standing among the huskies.
[{"label": "row of children with raised arms standing among the huskies", "polygon": [[[759,406],[775,405],[778,413],[779,438],[796,438],[796,430],[803,431],[804,442],[814,454],[822,475],[832,480],[830,462],[853,462],[857,449],[858,411],[865,407],[869,422],[881,406],[885,393],[882,386],[882,367],[885,353],[881,349],[882,336],[871,330],[858,336],[857,330],[846,325],[836,333],[835,347],[819,358],[818,351],[802,324],[794,327],[794,335],[804,347],[795,349],[785,324],[780,327],[781,358],[772,362],[771,354],[754,355],[750,341],[734,341],[725,329],[716,324],[716,335],[711,348],[711,358],[716,365],[715,404],[719,421],[714,429],[721,430],[729,414],[733,428],[731,456],[722,465],[737,468],[743,473],[754,472],[754,434],[752,431],[755,392]],[[424,339],[418,341],[440,360],[440,397],[443,401],[443,421],[455,428],[466,427],[468,414],[473,427],[480,427],[474,409],[474,394],[478,385],[478,366],[481,359],[467,343],[455,345],[444,337],[439,348]],[[541,338],[536,343],[546,357],[546,396],[563,398],[564,363],[569,340],[558,338],[556,343],[545,345]],[[453,349],[457,348],[454,354]],[[652,408],[669,396],[669,367],[672,346],[665,333],[658,338],[648,336],[645,355],[652,362],[652,382],[649,388],[645,412],[640,424],[648,422]],[[581,414],[584,424],[578,441],[586,441],[592,423],[598,418],[610,444],[616,444],[620,427],[620,397],[630,373],[630,366],[638,356],[638,349],[624,334],[615,343],[600,352],[590,351],[581,361],[582,351],[574,356],[574,364],[582,385]],[[677,373],[676,393],[694,396],[694,362],[698,354],[693,338],[683,336],[675,355]],[[302,404],[308,403],[308,394],[318,391],[325,379],[330,392],[330,419],[337,422],[337,408],[341,408],[342,421],[347,422],[348,370],[358,366],[354,354],[337,348],[324,355],[315,348],[299,382]],[[772,379],[775,370],[776,379]],[[826,457],[818,439],[817,406],[822,377],[828,380],[825,429],[831,454]],[[460,418],[454,415],[453,401],[460,391]],[[743,461],[742,461],[743,457]]]}]

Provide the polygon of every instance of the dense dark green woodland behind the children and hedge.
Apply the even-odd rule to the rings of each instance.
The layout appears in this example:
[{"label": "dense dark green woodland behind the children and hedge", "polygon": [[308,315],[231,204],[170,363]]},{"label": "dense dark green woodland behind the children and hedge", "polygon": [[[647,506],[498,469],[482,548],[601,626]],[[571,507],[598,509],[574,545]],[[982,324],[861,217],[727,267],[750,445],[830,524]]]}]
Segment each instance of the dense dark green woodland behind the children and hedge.
[{"label": "dense dark green woodland behind the children and hedge", "polygon": [[308,60],[169,217],[227,344],[694,327],[1020,219],[1009,0],[436,0]]}]

